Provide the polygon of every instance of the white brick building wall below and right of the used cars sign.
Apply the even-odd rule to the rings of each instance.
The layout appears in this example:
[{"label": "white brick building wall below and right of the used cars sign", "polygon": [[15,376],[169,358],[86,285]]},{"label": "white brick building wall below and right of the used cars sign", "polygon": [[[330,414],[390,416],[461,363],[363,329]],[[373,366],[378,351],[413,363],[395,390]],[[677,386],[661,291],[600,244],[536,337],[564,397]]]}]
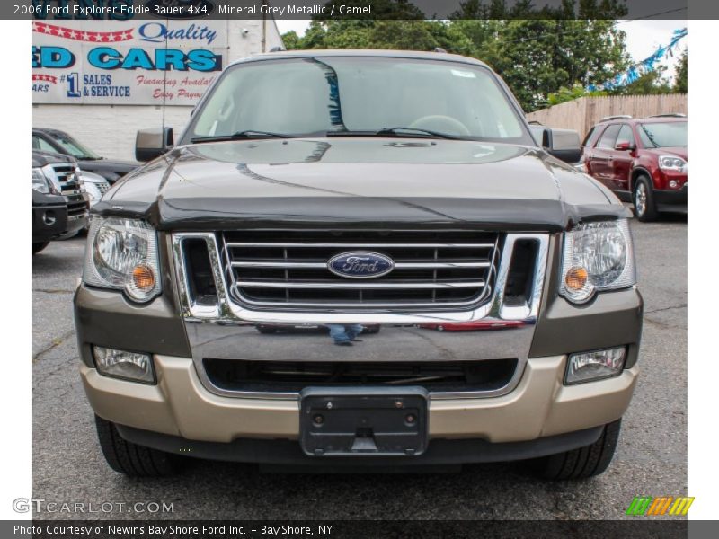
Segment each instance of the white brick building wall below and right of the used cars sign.
[{"label": "white brick building wall below and right of the used cars sign", "polygon": [[[226,64],[262,52],[262,20],[226,21]],[[265,25],[265,51],[282,44],[271,19]],[[192,107],[165,107],[165,125],[178,137],[190,119]],[[163,110],[157,105],[58,105],[34,104],[32,125],[67,131],[103,157],[135,159],[138,129],[162,127]]]}]

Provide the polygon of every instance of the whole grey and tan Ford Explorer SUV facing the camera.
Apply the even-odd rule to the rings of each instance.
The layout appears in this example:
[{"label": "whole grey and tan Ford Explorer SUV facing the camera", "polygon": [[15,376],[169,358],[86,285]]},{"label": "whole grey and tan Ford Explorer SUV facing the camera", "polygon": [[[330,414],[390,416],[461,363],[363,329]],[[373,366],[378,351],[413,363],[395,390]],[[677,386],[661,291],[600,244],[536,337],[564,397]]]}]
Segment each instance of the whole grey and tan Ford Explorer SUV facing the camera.
[{"label": "whole grey and tan Ford Explorer SUV facing the camera", "polygon": [[93,208],[75,294],[113,469],[607,467],[643,308],[626,209],[487,66],[253,57],[169,144],[138,133],[154,160]]}]

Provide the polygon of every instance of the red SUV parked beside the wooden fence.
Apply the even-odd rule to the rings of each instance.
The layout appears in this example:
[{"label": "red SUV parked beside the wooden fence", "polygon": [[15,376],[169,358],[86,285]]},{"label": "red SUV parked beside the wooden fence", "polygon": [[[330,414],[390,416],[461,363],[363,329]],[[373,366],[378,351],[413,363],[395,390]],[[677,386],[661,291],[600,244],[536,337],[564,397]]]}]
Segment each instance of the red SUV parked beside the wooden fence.
[{"label": "red SUV parked beside the wooden fence", "polygon": [[584,138],[582,161],[619,199],[634,202],[640,221],[652,221],[661,211],[687,213],[684,115],[601,119]]}]

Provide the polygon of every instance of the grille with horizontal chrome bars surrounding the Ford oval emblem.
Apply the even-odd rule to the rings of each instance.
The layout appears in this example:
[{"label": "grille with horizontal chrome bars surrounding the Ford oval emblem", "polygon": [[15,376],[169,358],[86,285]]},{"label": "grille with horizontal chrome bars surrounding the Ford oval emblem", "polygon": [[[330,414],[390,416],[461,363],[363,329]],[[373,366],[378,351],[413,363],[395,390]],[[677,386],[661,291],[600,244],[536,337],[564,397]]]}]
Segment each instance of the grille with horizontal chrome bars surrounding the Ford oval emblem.
[{"label": "grille with horizontal chrome bars surrounding the Ford oval emblem", "polygon": [[[222,234],[232,298],[249,308],[474,307],[489,298],[501,235],[467,231],[238,231]],[[371,251],[383,277],[343,278],[327,261]]]}]

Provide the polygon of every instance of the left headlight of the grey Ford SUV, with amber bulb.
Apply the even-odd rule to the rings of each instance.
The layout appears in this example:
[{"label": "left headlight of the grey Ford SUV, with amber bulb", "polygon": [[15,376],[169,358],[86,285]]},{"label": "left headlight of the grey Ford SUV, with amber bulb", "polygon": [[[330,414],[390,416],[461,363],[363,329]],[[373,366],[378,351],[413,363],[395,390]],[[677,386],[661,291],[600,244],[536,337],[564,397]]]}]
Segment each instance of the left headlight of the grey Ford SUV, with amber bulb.
[{"label": "left headlight of the grey Ford SUV, with amber bulb", "polygon": [[94,287],[123,290],[139,302],[157,296],[161,287],[155,229],[137,219],[93,217],[83,280]]}]

